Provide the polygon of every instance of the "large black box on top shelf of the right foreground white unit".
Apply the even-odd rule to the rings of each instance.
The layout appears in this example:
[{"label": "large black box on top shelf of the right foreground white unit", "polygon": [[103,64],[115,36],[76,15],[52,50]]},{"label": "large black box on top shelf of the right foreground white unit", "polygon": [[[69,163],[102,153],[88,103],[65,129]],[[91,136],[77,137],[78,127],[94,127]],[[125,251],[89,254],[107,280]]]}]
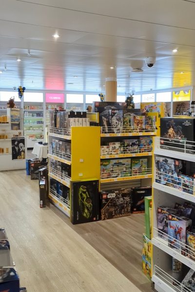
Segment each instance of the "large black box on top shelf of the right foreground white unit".
[{"label": "large black box on top shelf of the right foreground white unit", "polygon": [[195,143],[192,142],[195,142],[195,118],[161,118],[160,137],[161,148],[184,152],[186,144],[186,152],[194,154]]}]

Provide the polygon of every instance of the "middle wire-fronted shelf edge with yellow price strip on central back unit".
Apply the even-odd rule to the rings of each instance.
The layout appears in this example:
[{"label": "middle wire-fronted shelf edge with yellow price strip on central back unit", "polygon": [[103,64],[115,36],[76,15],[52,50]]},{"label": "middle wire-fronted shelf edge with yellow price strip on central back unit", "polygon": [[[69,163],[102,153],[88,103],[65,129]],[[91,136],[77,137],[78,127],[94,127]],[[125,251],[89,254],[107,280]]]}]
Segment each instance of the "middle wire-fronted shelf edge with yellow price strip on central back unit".
[{"label": "middle wire-fronted shelf edge with yellow price strip on central back unit", "polygon": [[101,148],[101,159],[106,158],[121,158],[121,157],[134,157],[134,156],[149,156],[152,155],[152,146],[139,146],[131,147],[129,149],[125,148],[109,148],[109,154],[103,154],[103,148]]}]

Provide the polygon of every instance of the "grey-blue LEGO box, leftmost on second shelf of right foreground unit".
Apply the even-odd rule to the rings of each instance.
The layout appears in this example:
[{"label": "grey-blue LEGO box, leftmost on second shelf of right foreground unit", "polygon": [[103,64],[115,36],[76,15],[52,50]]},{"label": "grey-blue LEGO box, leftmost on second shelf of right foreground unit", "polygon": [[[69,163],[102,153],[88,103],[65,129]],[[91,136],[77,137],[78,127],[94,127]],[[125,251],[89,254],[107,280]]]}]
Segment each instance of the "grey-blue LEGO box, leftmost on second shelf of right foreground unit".
[{"label": "grey-blue LEGO box, leftmost on second shelf of right foreground unit", "polygon": [[168,185],[182,190],[179,170],[182,168],[182,161],[156,156],[156,183]]}]

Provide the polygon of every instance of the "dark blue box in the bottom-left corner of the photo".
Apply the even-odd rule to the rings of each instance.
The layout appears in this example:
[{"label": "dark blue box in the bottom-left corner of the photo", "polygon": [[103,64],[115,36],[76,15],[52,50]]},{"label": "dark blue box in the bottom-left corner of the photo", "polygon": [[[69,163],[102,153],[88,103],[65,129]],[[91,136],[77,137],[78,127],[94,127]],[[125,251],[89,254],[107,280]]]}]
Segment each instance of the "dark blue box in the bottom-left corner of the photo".
[{"label": "dark blue box in the bottom-left corner of the photo", "polygon": [[14,268],[0,267],[0,292],[20,292],[19,276]]}]

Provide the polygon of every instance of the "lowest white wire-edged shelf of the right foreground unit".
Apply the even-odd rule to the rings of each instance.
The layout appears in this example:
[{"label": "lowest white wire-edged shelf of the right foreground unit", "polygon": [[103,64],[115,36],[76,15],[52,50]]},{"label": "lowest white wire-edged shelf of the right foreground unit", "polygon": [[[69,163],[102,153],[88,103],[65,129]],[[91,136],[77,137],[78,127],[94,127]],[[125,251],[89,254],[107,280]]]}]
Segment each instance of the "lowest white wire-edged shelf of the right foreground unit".
[{"label": "lowest white wire-edged shelf of the right foreground unit", "polygon": [[[164,292],[192,292],[185,285],[177,281],[174,277],[172,277],[169,273],[165,272],[158,266],[154,266],[154,274],[152,276],[152,281],[156,284],[155,288],[157,291]],[[159,290],[158,290],[159,287]]]}]

